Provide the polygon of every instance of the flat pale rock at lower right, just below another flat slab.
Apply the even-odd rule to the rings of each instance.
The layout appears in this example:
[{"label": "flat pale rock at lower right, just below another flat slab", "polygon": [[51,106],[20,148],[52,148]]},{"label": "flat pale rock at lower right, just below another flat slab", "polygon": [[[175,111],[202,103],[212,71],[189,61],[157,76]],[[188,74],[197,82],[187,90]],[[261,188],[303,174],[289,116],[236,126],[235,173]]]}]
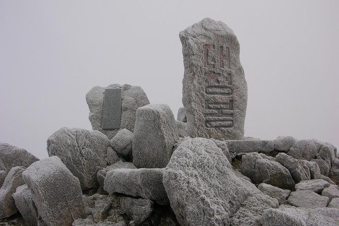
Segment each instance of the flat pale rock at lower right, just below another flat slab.
[{"label": "flat pale rock at lower right, just below another flat slab", "polygon": [[320,196],[317,193],[308,190],[295,191],[291,192],[286,204],[296,207],[315,209],[326,207],[328,204],[328,197]]}]

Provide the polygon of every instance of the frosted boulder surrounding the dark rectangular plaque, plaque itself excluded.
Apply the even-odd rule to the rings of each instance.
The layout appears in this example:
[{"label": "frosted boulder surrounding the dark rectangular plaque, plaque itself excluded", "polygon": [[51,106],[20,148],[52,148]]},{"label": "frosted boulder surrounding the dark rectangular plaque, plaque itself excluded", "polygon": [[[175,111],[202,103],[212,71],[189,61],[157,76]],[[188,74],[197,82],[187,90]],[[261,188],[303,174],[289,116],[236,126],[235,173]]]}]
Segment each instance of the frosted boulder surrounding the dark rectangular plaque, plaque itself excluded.
[{"label": "frosted boulder surrounding the dark rectangular plaque, plaque itself excluded", "polygon": [[137,111],[138,107],[145,106],[150,102],[144,90],[139,86],[121,86],[119,84],[112,84],[108,87],[93,87],[86,94],[86,101],[89,108],[89,121],[92,124],[93,130],[99,130],[100,132],[106,134],[109,139],[112,139],[119,130],[103,130],[101,128],[104,93],[105,89],[110,88],[122,89],[120,130],[128,129],[129,131],[133,132],[135,112]]}]

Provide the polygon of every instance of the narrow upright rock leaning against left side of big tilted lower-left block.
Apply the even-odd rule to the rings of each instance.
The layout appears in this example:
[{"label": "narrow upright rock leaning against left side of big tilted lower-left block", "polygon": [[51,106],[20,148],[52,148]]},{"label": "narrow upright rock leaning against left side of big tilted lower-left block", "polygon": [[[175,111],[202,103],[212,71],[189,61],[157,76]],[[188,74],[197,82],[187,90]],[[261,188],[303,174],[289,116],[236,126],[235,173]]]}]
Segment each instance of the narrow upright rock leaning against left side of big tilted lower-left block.
[{"label": "narrow upright rock leaning against left side of big tilted lower-left block", "polygon": [[32,193],[29,191],[27,184],[18,186],[13,198],[16,207],[27,224],[30,226],[38,225],[38,210],[32,200]]}]

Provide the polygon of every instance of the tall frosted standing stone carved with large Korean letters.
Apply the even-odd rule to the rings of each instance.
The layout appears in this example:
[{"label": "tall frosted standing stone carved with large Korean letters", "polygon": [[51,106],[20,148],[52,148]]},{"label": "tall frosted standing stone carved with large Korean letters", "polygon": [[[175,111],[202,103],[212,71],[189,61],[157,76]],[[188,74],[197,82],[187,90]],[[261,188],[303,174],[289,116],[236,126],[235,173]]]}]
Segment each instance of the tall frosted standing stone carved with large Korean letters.
[{"label": "tall frosted standing stone carved with large Korean letters", "polygon": [[179,37],[189,135],[243,139],[247,83],[235,34],[223,22],[205,18],[181,31]]}]

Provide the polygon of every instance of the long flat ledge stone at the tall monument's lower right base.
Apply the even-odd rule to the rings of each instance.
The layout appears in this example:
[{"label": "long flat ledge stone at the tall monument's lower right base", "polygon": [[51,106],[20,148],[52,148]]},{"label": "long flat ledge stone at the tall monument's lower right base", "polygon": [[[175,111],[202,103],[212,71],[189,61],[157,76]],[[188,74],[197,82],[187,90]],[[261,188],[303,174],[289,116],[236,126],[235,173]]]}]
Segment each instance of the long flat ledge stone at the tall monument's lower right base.
[{"label": "long flat ledge stone at the tall monument's lower right base", "polygon": [[235,153],[270,153],[274,150],[273,140],[227,140],[228,149]]}]

